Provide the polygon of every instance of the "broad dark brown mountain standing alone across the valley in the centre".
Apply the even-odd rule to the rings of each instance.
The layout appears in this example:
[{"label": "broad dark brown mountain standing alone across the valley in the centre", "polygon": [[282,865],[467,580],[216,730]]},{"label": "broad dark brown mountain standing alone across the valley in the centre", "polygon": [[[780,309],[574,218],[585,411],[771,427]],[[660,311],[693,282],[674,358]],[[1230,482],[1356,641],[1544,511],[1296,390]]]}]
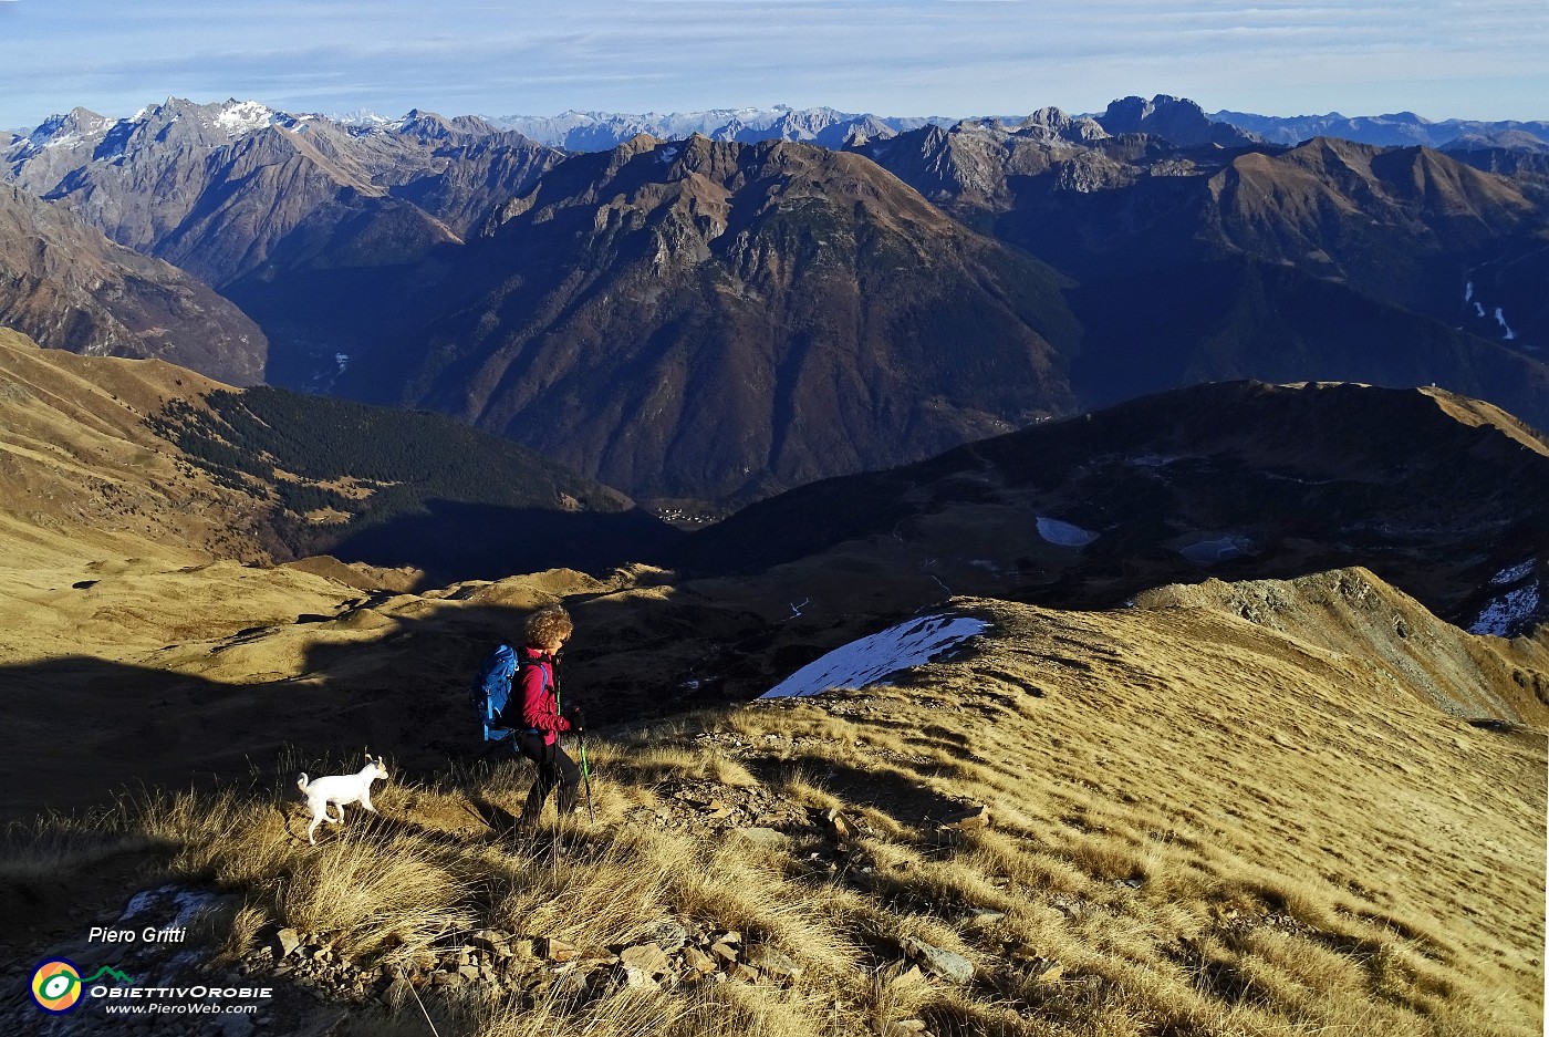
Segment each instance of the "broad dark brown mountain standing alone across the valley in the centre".
[{"label": "broad dark brown mountain standing alone across the valley in the centre", "polygon": [[761,494],[1067,406],[1061,279],[805,144],[640,136],[570,160],[452,281],[423,353],[378,350],[341,389],[432,405],[637,496]]}]

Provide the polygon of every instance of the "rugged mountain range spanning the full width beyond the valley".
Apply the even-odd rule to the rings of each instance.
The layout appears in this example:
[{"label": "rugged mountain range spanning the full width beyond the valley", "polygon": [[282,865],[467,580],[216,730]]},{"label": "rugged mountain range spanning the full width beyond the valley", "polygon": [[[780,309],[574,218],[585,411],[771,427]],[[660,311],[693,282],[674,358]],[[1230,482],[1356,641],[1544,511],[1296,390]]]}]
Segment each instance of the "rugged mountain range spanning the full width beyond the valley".
[{"label": "rugged mountain range spanning the full width beyond the valley", "polygon": [[[1549,425],[1526,129],[1515,150],[1286,147],[1166,96],[912,129],[711,115],[804,140],[587,116],[570,129],[632,135],[578,153],[477,116],[169,99],[50,119],[0,177],[22,251],[57,212],[266,338],[184,363],[434,408],[643,499],[745,502],[1222,378],[1437,383]],[[51,270],[9,284],[65,298]]]}]

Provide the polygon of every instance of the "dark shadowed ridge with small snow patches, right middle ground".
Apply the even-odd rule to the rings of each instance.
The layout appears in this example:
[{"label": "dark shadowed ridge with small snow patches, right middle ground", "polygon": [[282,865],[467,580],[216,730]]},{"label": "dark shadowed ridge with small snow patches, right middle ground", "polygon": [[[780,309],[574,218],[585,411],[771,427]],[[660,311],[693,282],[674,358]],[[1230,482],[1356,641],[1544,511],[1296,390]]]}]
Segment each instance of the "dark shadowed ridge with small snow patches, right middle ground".
[{"label": "dark shadowed ridge with small snow patches, right middle ground", "polygon": [[[1089,543],[1060,543],[1047,519]],[[672,561],[747,574],[852,549],[950,594],[1061,608],[1366,566],[1472,618],[1470,595],[1549,550],[1549,446],[1442,391],[1205,384],[802,487]]]}]

